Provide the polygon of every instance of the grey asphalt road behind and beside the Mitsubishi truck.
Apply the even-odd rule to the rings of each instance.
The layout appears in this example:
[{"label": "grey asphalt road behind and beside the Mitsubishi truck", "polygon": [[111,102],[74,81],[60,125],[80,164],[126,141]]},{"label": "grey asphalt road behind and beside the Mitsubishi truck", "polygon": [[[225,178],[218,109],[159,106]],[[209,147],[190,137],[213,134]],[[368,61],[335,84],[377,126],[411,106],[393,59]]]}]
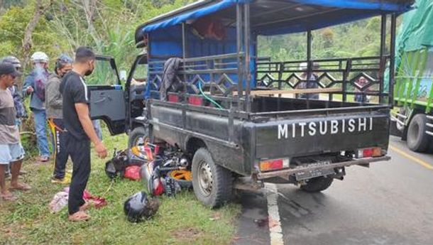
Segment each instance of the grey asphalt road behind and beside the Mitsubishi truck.
[{"label": "grey asphalt road behind and beside the Mitsubishi truck", "polygon": [[321,193],[295,185],[273,185],[278,194],[244,192],[234,244],[433,244],[433,154],[413,153],[391,137],[390,156],[371,168],[346,168],[345,179]]}]

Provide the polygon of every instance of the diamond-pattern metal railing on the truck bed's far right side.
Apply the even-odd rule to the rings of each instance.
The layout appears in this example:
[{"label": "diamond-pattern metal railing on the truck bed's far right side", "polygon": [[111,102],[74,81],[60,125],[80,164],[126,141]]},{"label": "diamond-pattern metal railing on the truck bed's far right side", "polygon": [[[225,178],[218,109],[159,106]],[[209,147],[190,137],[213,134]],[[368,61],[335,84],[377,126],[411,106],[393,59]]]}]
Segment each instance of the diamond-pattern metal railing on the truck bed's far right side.
[{"label": "diamond-pattern metal railing on the truck bed's far right side", "polygon": [[[389,91],[383,91],[384,72],[389,57],[366,57],[327,59],[312,61],[311,74],[314,80],[307,80],[305,61],[290,62],[257,62],[256,81],[258,86],[274,89],[295,89],[305,82],[315,83],[317,88],[341,88],[344,101],[348,97],[375,97],[375,102],[383,102],[389,97]],[[305,65],[304,65],[305,67]],[[362,82],[360,82],[362,81]],[[353,99],[352,99],[353,101]]]}]

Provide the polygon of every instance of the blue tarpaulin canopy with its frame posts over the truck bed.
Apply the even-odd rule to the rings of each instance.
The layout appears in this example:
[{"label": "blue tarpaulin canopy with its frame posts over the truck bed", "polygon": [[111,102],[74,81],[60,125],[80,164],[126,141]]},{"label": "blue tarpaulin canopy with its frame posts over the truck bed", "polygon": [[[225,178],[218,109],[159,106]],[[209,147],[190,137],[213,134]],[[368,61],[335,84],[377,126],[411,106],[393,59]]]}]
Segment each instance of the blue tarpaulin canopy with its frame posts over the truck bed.
[{"label": "blue tarpaulin canopy with its frame posts over the truck bed", "polygon": [[[139,26],[136,43],[148,40],[149,64],[177,56],[181,58],[205,57],[224,53],[237,53],[239,72],[231,74],[237,83],[238,104],[245,95],[246,111],[250,111],[249,92],[255,86],[256,40],[259,35],[277,35],[307,31],[307,71],[312,71],[311,31],[356,21],[371,16],[382,16],[380,56],[385,50],[386,16],[392,16],[390,50],[395,45],[396,16],[410,9],[413,0],[208,0],[199,1],[177,11],[158,16]],[[209,16],[225,20],[228,36],[218,42],[199,40],[187,25]],[[188,40],[188,42],[187,42]],[[203,43],[206,48],[203,48]],[[201,47],[201,48],[200,48]],[[192,51],[192,52],[190,52]],[[394,64],[391,59],[390,66]],[[152,69],[155,67],[151,67]],[[393,80],[393,75],[391,80]],[[309,75],[307,77],[310,77]],[[149,80],[150,77],[149,77]],[[148,85],[150,86],[150,85]],[[148,87],[148,90],[150,87]],[[245,94],[243,94],[245,92]],[[147,93],[148,94],[148,93]],[[392,92],[390,93],[392,94]],[[345,100],[344,95],[344,100]]]}]

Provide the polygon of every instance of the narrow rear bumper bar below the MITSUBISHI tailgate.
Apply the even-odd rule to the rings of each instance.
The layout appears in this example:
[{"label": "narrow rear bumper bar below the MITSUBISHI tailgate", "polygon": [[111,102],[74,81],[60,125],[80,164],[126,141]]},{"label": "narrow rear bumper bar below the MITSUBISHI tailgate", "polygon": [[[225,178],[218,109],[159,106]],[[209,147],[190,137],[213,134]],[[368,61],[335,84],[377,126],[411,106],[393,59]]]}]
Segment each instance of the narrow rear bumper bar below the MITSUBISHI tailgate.
[{"label": "narrow rear bumper bar below the MITSUBISHI tailgate", "polygon": [[285,170],[277,170],[272,172],[265,172],[265,173],[258,173],[257,178],[259,180],[263,180],[266,178],[273,178],[273,177],[281,177],[287,179],[288,176],[293,175],[295,173],[301,173],[305,171],[312,171],[312,170],[327,170],[332,168],[342,168],[342,167],[348,167],[350,165],[366,165],[368,163],[376,163],[380,161],[390,160],[390,156],[381,156],[377,158],[366,158],[366,159],[359,159],[359,160],[349,160],[345,162],[340,163],[331,163],[329,165],[319,165],[319,166],[310,166],[310,167],[297,167],[297,168],[287,168]]}]

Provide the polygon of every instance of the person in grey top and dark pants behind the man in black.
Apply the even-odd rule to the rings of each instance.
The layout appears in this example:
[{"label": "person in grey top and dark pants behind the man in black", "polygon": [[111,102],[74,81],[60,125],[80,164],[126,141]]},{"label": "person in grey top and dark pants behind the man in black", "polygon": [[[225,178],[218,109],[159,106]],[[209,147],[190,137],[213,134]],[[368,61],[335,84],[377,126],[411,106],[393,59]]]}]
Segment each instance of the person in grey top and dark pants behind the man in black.
[{"label": "person in grey top and dark pants behind the man in black", "polygon": [[60,55],[55,61],[55,73],[48,77],[47,85],[45,85],[45,108],[48,124],[53,134],[55,156],[52,183],[68,183],[69,181],[65,179],[68,155],[65,148],[65,136],[63,135],[65,125],[63,124],[62,115],[62,94],[60,94],[59,88],[62,77],[70,70],[72,70],[72,59],[67,55]]}]

